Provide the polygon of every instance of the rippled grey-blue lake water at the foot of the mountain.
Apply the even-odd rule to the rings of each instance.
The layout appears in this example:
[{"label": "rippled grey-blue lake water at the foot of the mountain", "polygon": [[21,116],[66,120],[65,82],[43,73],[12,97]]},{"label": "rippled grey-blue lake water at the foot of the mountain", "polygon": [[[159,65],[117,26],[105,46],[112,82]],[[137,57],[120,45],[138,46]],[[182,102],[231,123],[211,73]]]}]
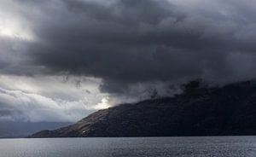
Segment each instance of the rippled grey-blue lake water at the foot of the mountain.
[{"label": "rippled grey-blue lake water at the foot of the mountain", "polygon": [[1,157],[255,157],[256,137],[1,139]]}]

